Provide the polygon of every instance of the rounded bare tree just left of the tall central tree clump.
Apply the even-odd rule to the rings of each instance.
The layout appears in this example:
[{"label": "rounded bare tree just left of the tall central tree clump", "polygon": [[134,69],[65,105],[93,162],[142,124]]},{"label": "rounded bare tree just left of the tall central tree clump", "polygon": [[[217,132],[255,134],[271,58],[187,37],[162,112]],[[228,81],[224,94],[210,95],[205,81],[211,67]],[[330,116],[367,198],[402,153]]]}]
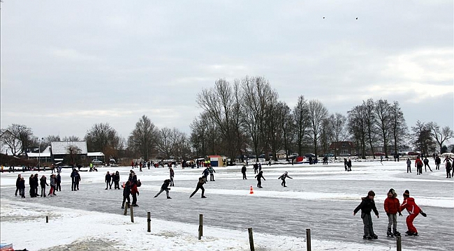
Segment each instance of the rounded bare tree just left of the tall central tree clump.
[{"label": "rounded bare tree just left of the tall central tree clump", "polygon": [[147,116],[142,115],[136,123],[136,128],[129,136],[129,146],[138,151],[144,158],[149,160],[150,153],[156,139],[157,128]]}]

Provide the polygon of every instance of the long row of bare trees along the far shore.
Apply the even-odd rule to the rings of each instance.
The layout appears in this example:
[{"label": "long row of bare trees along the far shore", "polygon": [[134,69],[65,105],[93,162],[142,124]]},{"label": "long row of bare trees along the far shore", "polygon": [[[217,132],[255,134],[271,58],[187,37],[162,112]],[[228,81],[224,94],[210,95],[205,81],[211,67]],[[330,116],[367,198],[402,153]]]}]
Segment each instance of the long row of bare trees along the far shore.
[{"label": "long row of bare trees along the far shore", "polygon": [[[127,139],[108,123],[94,124],[85,135],[87,148],[113,158],[187,159],[220,154],[228,155],[233,162],[237,155],[242,158],[247,149],[256,158],[264,154],[266,159],[276,159],[281,150],[287,155],[330,153],[332,142],[349,140],[363,158],[377,149],[383,149],[388,158],[388,153],[397,153],[406,144],[413,144],[416,151],[425,154],[437,149],[447,151],[444,142],[454,137],[451,128],[441,128],[434,122],[418,121],[409,132],[396,101],[365,100],[344,116],[330,114],[319,100],[299,96],[291,109],[279,100],[264,77],[244,77],[231,83],[218,79],[196,98],[202,111],[190,124],[189,136],[177,128],[157,128],[143,115]],[[2,129],[0,140],[13,155],[22,155],[39,144],[31,128],[17,124]],[[49,135],[41,142],[49,145],[59,140],[59,136]],[[61,140],[80,139],[71,136]]]}]

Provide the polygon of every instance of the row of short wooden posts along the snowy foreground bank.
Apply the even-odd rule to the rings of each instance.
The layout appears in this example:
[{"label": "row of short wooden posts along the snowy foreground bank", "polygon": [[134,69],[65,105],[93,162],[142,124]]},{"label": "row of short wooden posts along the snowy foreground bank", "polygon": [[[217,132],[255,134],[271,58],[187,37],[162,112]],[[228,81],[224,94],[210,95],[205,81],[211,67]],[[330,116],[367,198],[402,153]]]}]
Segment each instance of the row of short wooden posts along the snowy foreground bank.
[{"label": "row of short wooden posts along the snowy foreground bank", "polygon": [[[133,206],[128,206],[126,205],[124,207],[124,215],[128,214],[128,208],[131,208],[131,222],[134,222],[134,211],[133,211]],[[45,222],[49,223],[49,216],[45,217]],[[152,231],[152,218],[151,218],[151,213],[147,212],[147,231]],[[251,251],[255,251],[256,249],[254,248],[254,236],[252,234],[252,228],[249,227],[247,229],[247,232],[249,234],[249,248],[251,248]],[[203,236],[203,214],[198,215],[198,239],[200,240]],[[397,251],[402,251],[402,238],[400,236],[396,236],[396,245],[397,245]],[[306,250],[311,251],[311,229],[306,229]]]}]

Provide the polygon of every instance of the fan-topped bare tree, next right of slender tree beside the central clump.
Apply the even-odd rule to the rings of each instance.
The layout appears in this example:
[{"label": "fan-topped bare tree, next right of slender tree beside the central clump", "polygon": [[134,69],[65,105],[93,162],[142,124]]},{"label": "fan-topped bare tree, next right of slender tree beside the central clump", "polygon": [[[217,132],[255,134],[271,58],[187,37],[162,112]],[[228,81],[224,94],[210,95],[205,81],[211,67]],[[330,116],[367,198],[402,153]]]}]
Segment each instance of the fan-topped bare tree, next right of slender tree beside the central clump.
[{"label": "fan-topped bare tree, next right of slender tree beside the central clump", "polygon": [[310,100],[309,105],[309,131],[312,135],[312,144],[314,144],[314,154],[317,156],[318,137],[321,134],[323,121],[328,117],[328,109],[318,100]]}]

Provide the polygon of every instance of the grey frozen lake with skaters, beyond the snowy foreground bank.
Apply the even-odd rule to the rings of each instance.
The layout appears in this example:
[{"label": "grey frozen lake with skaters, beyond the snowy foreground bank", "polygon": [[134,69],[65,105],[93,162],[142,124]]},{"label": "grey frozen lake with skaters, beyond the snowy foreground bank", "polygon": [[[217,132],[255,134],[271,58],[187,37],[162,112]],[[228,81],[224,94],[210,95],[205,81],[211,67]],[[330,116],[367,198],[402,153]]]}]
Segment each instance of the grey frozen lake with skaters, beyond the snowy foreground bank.
[{"label": "grey frozen lake with skaters, beyond the snowy foreground bank", "polygon": [[[433,165],[433,161],[431,160]],[[1,199],[49,204],[60,208],[75,208],[122,215],[120,208],[122,190],[104,190],[105,172],[119,171],[121,183],[126,181],[130,167],[101,167],[98,172],[81,172],[80,190],[71,192],[70,169],[63,169],[62,191],[57,197],[30,198],[28,177],[30,172],[22,173],[26,179],[26,196],[14,196],[16,173],[1,174]],[[200,191],[189,199],[196,188],[198,177],[203,168],[175,169],[175,187],[166,199],[165,192],[158,198],[162,181],[168,178],[167,168],[134,169],[142,187],[139,188],[137,217],[146,217],[147,211],[152,219],[169,222],[184,222],[198,225],[198,214],[203,213],[204,226],[229,230],[244,230],[249,227],[255,233],[275,236],[304,237],[305,229],[310,228],[312,239],[342,243],[365,243],[373,247],[389,247],[395,250],[395,239],[386,237],[388,218],[383,210],[383,201],[390,188],[394,188],[402,203],[402,193],[409,190],[416,204],[427,213],[413,222],[420,236],[404,236],[407,231],[405,218],[398,217],[398,231],[402,233],[402,247],[408,250],[452,250],[454,240],[454,181],[446,178],[444,167],[434,172],[424,172],[417,176],[416,170],[407,174],[404,161],[394,162],[353,162],[352,172],[345,172],[343,163],[329,165],[263,165],[263,188],[256,188],[254,171],[249,165],[247,180],[242,179],[241,166],[215,167],[216,181],[205,185],[205,196],[200,199]],[[427,169],[428,171],[428,169]],[[278,177],[284,172],[293,179],[287,179],[287,188],[281,187]],[[50,172],[40,172],[48,178]],[[47,180],[49,182],[49,180]],[[249,195],[250,186],[254,195]],[[375,203],[380,218],[373,217],[374,231],[379,239],[363,241],[363,222],[360,214],[353,217],[353,209],[360,204],[360,197],[367,191],[376,193]],[[48,189],[47,189],[48,191]],[[2,236],[3,241],[3,236]],[[318,250],[317,248],[313,248]],[[386,249],[383,249],[386,250]]]}]

